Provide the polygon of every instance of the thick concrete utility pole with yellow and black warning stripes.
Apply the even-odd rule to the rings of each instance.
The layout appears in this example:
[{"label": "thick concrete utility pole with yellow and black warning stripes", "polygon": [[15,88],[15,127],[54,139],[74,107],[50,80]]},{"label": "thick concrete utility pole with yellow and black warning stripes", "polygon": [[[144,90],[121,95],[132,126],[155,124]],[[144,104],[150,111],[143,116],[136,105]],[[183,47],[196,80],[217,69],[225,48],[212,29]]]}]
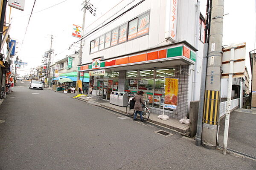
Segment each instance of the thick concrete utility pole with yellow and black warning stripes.
[{"label": "thick concrete utility pole with yellow and black warning stripes", "polygon": [[221,59],[224,0],[212,0],[202,145],[216,149],[221,91]]}]

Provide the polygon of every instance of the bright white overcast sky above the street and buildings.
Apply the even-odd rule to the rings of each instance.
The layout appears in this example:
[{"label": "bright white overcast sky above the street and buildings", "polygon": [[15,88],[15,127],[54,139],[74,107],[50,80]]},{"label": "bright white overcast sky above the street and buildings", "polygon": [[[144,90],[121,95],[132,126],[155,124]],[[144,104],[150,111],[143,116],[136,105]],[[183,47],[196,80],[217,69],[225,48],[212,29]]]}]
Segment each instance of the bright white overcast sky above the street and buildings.
[{"label": "bright white overcast sky above the street and buildings", "polygon": [[[71,34],[73,24],[82,25],[83,12],[81,12],[81,3],[83,0],[63,1],[37,0],[24,39],[34,0],[26,0],[24,11],[12,9],[12,29],[10,35],[12,39],[17,40],[19,43],[17,51],[20,59],[29,63],[28,66],[20,70],[21,75],[25,74],[24,71],[29,71],[31,67],[41,65],[42,55],[50,48],[50,35],[54,36],[52,49],[55,50],[53,55],[55,61],[64,58],[66,55],[73,54],[74,50],[79,49],[79,44],[77,44],[78,47],[68,50],[70,44],[78,40],[76,37],[72,37]],[[87,12],[86,25],[92,23],[120,1],[90,0],[97,8],[97,15],[93,17],[93,15]],[[223,45],[246,42],[246,66],[249,73],[249,51],[256,49],[255,2],[256,0],[224,0],[224,14],[229,14],[224,16]],[[57,3],[60,4],[53,6]],[[46,9],[50,6],[53,7]],[[9,11],[9,7],[7,9]],[[201,0],[201,13],[204,16],[205,9],[206,0]],[[23,45],[20,48],[22,41]]]}]

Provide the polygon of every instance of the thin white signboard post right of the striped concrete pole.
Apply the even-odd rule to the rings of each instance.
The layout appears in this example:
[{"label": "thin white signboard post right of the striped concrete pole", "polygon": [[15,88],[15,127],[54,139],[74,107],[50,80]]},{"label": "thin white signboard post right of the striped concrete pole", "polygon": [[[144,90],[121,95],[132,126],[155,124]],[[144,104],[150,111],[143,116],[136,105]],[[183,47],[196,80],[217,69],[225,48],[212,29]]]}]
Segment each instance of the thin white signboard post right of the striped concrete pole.
[{"label": "thin white signboard post right of the striped concrete pole", "polygon": [[230,121],[230,108],[231,108],[231,95],[232,95],[232,83],[233,83],[233,66],[234,66],[235,47],[232,46],[230,49],[230,73],[228,76],[228,91],[227,91],[227,107],[226,107],[226,118],[223,136],[223,154],[227,153],[227,138]]}]

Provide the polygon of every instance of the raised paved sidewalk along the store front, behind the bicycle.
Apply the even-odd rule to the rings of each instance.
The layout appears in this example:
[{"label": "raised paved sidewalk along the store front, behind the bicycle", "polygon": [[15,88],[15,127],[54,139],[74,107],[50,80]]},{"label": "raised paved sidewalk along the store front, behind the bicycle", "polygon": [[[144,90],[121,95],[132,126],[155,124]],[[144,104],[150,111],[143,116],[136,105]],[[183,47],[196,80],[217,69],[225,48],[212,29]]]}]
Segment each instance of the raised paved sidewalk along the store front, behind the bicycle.
[{"label": "raised paved sidewalk along the store front, behind the bicycle", "polygon": [[[95,98],[87,99],[86,96],[81,96],[81,97],[78,97],[77,99],[81,101],[85,101],[89,104],[100,106],[106,109],[111,109],[113,111],[120,112],[122,114],[127,115],[125,110],[126,107],[120,107],[120,106],[110,104],[109,101],[98,100]],[[158,119],[157,116],[158,116],[157,114],[150,113],[150,117],[148,121],[163,127],[167,127],[172,130],[176,130],[177,132],[183,133],[185,135],[189,135],[189,125],[181,124],[179,123],[179,120],[174,118],[170,118],[166,121],[163,121],[162,119]]]}]

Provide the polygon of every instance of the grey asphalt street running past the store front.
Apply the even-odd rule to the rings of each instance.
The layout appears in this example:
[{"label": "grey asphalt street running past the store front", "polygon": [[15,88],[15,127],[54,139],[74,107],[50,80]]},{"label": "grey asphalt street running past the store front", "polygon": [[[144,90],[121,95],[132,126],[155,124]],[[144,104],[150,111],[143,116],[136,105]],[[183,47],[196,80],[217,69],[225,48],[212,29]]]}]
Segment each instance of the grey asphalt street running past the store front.
[{"label": "grey asphalt street running past the store front", "polygon": [[0,105],[0,170],[256,169],[192,139],[19,81]]}]

